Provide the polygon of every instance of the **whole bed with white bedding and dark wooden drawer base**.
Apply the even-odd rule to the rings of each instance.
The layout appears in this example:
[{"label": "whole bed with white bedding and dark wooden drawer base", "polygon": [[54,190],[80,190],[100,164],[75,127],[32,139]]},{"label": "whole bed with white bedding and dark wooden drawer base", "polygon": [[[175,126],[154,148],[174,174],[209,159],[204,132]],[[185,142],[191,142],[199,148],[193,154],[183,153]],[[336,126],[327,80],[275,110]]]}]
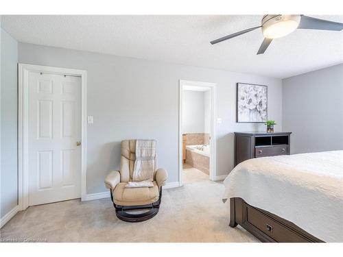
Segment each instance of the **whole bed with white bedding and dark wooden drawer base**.
[{"label": "whole bed with white bedding and dark wooden drawer base", "polygon": [[224,180],[230,226],[263,242],[343,242],[343,151],[246,160]]}]

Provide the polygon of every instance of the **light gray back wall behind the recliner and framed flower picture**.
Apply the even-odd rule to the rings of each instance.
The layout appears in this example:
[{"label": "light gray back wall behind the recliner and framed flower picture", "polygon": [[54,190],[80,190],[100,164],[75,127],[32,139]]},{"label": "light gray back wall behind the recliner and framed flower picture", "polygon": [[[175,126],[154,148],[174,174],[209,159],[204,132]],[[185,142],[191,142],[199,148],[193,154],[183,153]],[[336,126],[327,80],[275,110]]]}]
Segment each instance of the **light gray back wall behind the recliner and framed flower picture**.
[{"label": "light gray back wall behind the recliner and framed flower picture", "polygon": [[87,192],[104,192],[104,177],[119,168],[120,141],[155,138],[158,166],[178,181],[179,79],[217,83],[217,175],[233,169],[235,131],[265,130],[236,123],[236,83],[268,86],[268,118],[282,127],[281,79],[165,62],[19,43],[19,62],[84,69],[88,76]]}]

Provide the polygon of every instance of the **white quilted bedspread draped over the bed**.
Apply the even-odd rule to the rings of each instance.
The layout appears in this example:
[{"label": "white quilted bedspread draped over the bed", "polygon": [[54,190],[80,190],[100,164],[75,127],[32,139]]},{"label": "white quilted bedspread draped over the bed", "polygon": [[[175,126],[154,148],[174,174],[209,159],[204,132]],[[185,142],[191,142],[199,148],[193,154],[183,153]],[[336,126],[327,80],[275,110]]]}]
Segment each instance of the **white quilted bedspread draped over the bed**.
[{"label": "white quilted bedspread draped over the bed", "polygon": [[224,185],[224,201],[241,197],[322,241],[343,242],[343,151],[246,160]]}]

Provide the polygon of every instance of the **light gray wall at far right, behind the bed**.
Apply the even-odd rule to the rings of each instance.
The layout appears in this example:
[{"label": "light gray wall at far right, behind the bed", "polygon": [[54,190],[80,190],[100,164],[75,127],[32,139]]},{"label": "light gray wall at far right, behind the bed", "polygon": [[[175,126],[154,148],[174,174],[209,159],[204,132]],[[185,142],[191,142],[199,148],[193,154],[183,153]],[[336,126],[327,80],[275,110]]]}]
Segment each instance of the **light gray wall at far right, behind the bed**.
[{"label": "light gray wall at far right, behind the bed", "polygon": [[343,64],[283,79],[291,153],[343,149]]}]

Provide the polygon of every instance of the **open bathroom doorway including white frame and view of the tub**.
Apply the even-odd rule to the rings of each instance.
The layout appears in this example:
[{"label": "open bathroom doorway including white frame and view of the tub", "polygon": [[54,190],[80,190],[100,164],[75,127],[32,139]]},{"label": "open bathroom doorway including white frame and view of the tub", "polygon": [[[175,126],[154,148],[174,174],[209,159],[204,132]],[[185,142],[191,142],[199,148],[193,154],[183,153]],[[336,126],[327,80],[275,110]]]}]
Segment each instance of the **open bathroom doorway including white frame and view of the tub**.
[{"label": "open bathroom doorway including white frame and view of the tub", "polygon": [[215,99],[215,84],[180,80],[180,186],[215,180]]}]

